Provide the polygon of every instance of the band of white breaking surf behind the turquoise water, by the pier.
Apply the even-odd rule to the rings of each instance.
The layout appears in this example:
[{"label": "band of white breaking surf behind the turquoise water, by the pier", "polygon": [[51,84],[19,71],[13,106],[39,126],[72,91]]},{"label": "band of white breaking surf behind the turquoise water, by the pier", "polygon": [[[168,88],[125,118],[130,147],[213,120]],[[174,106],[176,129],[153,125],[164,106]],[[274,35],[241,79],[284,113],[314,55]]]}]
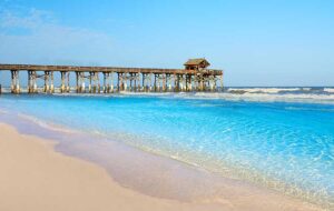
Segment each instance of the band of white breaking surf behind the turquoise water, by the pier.
[{"label": "band of white breaking surf behind the turquoise water, by the pier", "polygon": [[334,104],[333,87],[303,88],[226,88],[224,92],[129,92],[115,93],[53,93],[59,97],[104,97],[104,98],[188,98],[188,99],[222,99],[230,101],[255,102],[306,102]]}]

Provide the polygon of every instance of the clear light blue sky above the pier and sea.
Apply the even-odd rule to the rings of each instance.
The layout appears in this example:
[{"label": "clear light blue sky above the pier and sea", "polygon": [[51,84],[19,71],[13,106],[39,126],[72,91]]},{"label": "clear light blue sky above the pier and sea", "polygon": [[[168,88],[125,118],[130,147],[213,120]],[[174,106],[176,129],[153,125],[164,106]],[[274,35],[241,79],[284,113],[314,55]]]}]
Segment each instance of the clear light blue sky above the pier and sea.
[{"label": "clear light blue sky above the pier and sea", "polygon": [[332,0],[0,0],[0,63],[206,58],[229,87],[333,87],[333,11]]}]

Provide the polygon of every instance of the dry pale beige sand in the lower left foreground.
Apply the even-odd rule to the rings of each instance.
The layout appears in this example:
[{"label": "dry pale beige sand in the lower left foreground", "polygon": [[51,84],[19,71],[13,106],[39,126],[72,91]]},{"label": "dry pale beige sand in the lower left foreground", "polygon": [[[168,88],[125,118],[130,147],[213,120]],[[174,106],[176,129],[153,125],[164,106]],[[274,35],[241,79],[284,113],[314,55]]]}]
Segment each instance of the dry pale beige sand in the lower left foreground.
[{"label": "dry pale beige sand in the lower left foreground", "polygon": [[55,152],[55,144],[0,123],[1,211],[318,210],[275,194],[191,203],[154,198],[121,187],[99,165]]}]

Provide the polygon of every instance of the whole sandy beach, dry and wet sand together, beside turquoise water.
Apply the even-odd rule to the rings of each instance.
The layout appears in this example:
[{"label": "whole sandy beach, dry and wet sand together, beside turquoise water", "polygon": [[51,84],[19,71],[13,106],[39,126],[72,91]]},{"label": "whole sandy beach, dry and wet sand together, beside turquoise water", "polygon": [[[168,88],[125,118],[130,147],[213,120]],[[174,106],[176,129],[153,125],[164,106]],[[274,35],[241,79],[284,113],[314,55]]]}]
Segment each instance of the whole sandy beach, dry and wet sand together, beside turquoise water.
[{"label": "whole sandy beach, dry and wet sand together, beside turquoise water", "polygon": [[107,153],[104,144],[58,143],[0,123],[0,210],[321,210],[121,144]]}]

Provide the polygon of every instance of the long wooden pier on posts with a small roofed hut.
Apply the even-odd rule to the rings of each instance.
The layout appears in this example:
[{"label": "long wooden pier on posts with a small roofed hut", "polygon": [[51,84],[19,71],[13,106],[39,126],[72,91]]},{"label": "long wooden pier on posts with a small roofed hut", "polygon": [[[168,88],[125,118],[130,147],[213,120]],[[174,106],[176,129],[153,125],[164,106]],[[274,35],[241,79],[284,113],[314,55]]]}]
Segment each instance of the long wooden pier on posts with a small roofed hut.
[{"label": "long wooden pier on posts with a small roofed hut", "polygon": [[[21,92],[21,72],[28,73],[28,93],[55,93],[55,74],[60,74],[58,92],[61,93],[73,90],[77,93],[223,90],[223,70],[207,69],[209,63],[205,59],[189,59],[184,66],[185,69],[0,64],[0,71],[11,72],[10,90],[17,94]],[[75,88],[70,87],[71,73],[76,76]],[[38,80],[42,81],[42,88],[38,88]]]}]

